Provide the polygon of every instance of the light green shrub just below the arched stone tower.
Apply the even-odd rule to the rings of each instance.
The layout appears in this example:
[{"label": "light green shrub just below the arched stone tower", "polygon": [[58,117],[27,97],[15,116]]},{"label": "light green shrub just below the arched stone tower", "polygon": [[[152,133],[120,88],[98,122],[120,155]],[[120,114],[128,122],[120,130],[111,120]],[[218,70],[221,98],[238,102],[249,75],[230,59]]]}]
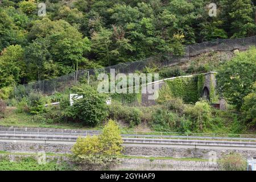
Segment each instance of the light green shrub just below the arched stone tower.
[{"label": "light green shrub just below the arched stone tower", "polygon": [[187,106],[184,113],[193,121],[194,130],[203,131],[209,127],[212,114],[208,102],[198,101],[194,106]]}]

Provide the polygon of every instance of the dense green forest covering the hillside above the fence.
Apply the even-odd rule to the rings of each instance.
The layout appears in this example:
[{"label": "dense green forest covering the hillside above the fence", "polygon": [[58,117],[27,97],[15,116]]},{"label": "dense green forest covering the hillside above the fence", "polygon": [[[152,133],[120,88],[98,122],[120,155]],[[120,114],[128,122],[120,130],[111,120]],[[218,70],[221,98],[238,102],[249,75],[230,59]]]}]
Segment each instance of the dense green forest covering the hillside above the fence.
[{"label": "dense green forest covering the hillside above the fence", "polygon": [[[40,2],[46,16],[39,16]],[[217,16],[209,16],[209,3]],[[0,89],[255,35],[250,0],[2,0]]]}]

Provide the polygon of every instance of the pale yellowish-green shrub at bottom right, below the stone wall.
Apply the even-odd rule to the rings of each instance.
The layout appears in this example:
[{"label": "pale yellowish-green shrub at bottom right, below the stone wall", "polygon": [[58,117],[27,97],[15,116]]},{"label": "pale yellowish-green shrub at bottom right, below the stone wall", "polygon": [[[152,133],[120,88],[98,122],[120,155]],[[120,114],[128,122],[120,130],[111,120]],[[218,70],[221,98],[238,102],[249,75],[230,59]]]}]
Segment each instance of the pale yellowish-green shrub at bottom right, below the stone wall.
[{"label": "pale yellowish-green shrub at bottom right, below the stone wall", "polygon": [[225,171],[245,171],[247,162],[240,154],[228,154],[218,162],[222,170]]}]

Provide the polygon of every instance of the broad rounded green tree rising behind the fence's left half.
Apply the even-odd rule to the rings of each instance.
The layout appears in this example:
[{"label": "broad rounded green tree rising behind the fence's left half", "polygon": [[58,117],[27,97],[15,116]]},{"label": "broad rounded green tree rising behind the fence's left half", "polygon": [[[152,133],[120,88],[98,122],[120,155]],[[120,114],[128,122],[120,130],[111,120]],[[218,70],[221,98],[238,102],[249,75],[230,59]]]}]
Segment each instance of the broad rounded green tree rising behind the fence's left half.
[{"label": "broad rounded green tree rising behind the fence's left half", "polygon": [[79,65],[89,64],[84,54],[90,51],[90,40],[82,38],[64,20],[36,20],[28,38],[33,42],[25,50],[27,67],[38,80],[74,72]]}]

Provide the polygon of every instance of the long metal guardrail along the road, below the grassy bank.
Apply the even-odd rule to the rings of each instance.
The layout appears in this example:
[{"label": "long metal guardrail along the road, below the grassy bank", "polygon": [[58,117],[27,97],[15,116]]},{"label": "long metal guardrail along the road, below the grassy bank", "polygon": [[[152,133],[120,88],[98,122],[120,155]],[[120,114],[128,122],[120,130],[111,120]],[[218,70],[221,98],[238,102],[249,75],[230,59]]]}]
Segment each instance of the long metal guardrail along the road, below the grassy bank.
[{"label": "long metal guardrail along the road, below the grassy bank", "polygon": [[[6,129],[6,130],[5,130]],[[57,131],[26,131],[26,128],[0,128],[1,137],[39,137],[39,138],[77,138],[92,135],[99,135],[101,130],[57,130]],[[37,131],[35,131],[37,130]],[[201,133],[158,133],[158,132],[134,132],[121,131],[122,137],[125,139],[160,139],[160,140],[207,140],[218,142],[239,142],[239,143],[254,143],[256,135],[237,135],[237,134],[201,134]],[[230,137],[232,136],[232,137]]]}]

